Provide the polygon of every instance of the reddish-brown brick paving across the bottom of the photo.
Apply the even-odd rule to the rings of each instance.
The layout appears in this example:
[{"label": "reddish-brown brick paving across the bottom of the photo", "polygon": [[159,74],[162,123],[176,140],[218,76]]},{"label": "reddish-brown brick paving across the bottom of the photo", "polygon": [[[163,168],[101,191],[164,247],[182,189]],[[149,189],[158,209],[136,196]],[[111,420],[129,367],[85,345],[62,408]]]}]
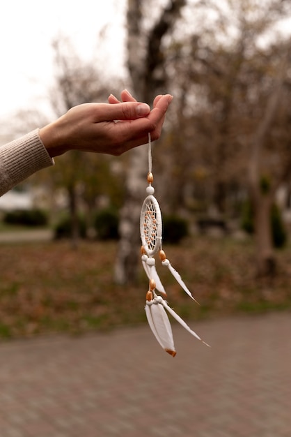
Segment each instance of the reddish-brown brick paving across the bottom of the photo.
[{"label": "reddish-brown brick paving across the bottom of the photo", "polygon": [[194,329],[1,343],[0,436],[290,437],[291,313]]}]

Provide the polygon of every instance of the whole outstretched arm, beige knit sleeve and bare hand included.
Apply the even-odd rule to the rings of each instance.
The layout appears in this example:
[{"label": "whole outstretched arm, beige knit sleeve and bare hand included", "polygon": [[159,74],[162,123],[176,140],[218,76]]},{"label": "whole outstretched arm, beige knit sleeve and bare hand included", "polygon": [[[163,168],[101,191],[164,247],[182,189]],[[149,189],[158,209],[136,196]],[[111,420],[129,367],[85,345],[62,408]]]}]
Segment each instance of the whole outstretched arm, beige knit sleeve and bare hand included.
[{"label": "whole outstretched arm, beige knit sleeve and bare hand included", "polygon": [[122,102],[111,96],[111,103],[77,105],[40,130],[0,147],[0,195],[38,170],[53,165],[53,157],[66,151],[119,156],[146,144],[148,133],[152,141],[157,140],[173,97],[157,96],[152,110],[148,104],[137,102],[128,91],[123,91],[122,98]]}]

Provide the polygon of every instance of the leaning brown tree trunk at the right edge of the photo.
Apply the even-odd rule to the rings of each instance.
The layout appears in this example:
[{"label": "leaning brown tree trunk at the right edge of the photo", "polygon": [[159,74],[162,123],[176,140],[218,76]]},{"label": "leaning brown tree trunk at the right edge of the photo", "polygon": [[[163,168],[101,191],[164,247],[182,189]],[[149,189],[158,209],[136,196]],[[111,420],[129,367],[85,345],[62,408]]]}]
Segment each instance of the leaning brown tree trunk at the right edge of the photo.
[{"label": "leaning brown tree trunk at the right edge of the photo", "polygon": [[269,91],[265,110],[254,131],[249,165],[258,276],[273,276],[276,272],[271,210],[278,187],[290,178],[291,173],[290,83],[286,80],[290,68],[290,42],[283,48],[285,53],[276,65],[273,89]]}]

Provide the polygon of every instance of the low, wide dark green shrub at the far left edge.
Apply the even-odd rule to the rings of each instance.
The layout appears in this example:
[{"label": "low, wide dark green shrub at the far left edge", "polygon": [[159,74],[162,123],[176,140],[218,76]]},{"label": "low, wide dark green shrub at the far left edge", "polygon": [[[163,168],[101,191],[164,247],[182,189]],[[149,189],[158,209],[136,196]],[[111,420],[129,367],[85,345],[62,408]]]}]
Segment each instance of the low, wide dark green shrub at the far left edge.
[{"label": "low, wide dark green shrub at the far left edge", "polygon": [[48,223],[48,217],[42,209],[16,209],[7,212],[3,221],[9,225],[45,226]]}]

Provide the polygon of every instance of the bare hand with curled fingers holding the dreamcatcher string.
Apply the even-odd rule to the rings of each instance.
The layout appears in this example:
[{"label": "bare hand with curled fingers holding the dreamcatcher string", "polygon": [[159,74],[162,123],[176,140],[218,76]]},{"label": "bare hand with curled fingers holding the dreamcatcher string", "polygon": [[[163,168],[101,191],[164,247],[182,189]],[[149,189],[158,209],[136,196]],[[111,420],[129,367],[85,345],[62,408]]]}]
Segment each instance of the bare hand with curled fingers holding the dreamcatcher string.
[{"label": "bare hand with curled fingers holding the dreamcatcher string", "polygon": [[[153,109],[136,102],[128,93],[122,102],[109,96],[109,103],[84,103],[40,129],[40,138],[51,157],[68,150],[93,151],[119,156],[133,147],[146,144],[161,135],[172,96],[157,96]],[[116,121],[122,121],[117,123]]]}]

